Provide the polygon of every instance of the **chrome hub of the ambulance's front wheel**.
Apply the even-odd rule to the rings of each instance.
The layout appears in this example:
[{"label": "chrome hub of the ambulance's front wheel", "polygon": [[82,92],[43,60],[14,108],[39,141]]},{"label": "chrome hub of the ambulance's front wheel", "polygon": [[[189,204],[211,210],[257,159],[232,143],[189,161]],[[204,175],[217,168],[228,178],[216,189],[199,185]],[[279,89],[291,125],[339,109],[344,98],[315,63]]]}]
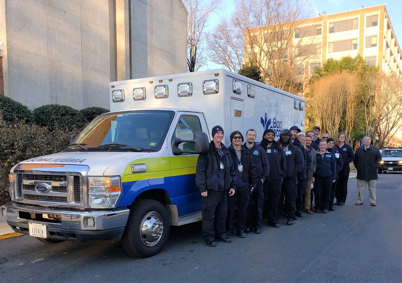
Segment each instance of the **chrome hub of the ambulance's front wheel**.
[{"label": "chrome hub of the ambulance's front wheel", "polygon": [[142,243],[144,243],[144,245],[146,245],[147,247],[153,247],[162,238],[162,217],[156,211],[149,212],[142,219],[141,227],[139,229]]}]

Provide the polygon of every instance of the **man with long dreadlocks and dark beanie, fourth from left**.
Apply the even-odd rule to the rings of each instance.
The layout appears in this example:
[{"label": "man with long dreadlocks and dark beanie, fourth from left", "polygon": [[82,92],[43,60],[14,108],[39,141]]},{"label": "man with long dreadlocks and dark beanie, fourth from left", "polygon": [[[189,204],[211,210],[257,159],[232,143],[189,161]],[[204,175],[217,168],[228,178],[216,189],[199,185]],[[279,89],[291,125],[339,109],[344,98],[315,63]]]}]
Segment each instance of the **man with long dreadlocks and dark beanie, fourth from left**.
[{"label": "man with long dreadlocks and dark beanie, fourth from left", "polygon": [[279,228],[278,201],[281,196],[282,180],[286,176],[286,158],[283,149],[275,142],[275,131],[264,131],[261,147],[267,153],[269,174],[264,182],[265,206],[264,214],[267,214],[268,224]]}]

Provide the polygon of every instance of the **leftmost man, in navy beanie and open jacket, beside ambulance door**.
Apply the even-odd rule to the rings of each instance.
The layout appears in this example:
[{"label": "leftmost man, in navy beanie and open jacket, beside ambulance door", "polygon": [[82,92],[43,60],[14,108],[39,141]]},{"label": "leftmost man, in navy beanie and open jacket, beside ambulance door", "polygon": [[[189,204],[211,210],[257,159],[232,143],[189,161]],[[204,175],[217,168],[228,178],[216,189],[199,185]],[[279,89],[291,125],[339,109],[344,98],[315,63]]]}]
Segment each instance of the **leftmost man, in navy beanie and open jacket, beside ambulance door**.
[{"label": "leftmost man, in navy beanie and open jacket, beside ambulance door", "polygon": [[226,235],[226,215],[228,189],[229,196],[233,196],[236,189],[236,172],[232,156],[222,144],[224,130],[221,126],[213,127],[212,138],[209,152],[199,155],[195,172],[195,184],[202,196],[202,233],[205,244],[209,247],[216,246],[215,239],[224,243],[232,242]]}]

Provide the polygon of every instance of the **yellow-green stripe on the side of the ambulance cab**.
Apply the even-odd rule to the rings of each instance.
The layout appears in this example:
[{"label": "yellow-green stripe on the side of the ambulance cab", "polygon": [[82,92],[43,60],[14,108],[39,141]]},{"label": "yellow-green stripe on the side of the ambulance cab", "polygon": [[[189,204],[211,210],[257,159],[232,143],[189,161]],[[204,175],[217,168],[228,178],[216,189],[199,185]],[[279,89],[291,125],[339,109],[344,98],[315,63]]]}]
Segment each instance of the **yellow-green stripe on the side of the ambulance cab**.
[{"label": "yellow-green stripe on the side of the ambulance cab", "polygon": [[[197,160],[198,155],[137,159],[130,162],[124,169],[122,182],[195,174]],[[133,173],[131,165],[134,164],[145,164],[147,172]]]}]

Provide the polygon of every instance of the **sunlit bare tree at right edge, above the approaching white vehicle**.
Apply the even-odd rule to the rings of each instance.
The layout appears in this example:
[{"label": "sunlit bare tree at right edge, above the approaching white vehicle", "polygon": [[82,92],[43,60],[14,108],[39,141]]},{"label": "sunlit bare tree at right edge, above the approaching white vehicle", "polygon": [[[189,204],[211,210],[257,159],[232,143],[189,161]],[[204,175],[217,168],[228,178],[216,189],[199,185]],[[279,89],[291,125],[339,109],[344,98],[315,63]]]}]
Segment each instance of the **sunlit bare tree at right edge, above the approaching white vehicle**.
[{"label": "sunlit bare tree at right edge, above the approaching white vehicle", "polygon": [[383,148],[402,124],[402,79],[393,71],[381,75],[375,112],[374,131]]}]

